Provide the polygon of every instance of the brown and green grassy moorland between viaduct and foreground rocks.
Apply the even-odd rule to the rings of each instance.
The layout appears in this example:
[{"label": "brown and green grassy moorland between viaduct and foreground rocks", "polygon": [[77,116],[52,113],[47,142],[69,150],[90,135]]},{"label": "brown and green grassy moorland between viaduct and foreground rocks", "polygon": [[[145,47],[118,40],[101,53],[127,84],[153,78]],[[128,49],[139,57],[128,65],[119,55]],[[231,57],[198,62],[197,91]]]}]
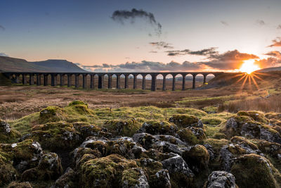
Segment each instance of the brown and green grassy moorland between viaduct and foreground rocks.
[{"label": "brown and green grassy moorland between viaduct and foreground rocks", "polygon": [[[13,86],[0,87],[0,118],[14,120],[40,111],[46,106],[64,107],[70,101],[81,100],[89,108],[119,108],[135,106],[157,106],[160,108],[189,107],[207,113],[217,111],[237,112],[258,110],[280,112],[280,73],[259,76],[256,84],[246,80],[235,84],[210,89],[187,89],[181,91],[181,81],[176,82],[176,91],[162,92],[162,80],[157,80],[157,92],[141,89],[81,89],[74,87]],[[274,80],[273,80],[274,78]],[[225,79],[225,78],[224,78]],[[138,80],[141,82],[141,80]],[[192,84],[187,81],[186,85]],[[197,87],[202,83],[197,82]],[[141,84],[138,83],[140,86]],[[149,88],[149,80],[147,80]],[[171,80],[167,80],[167,87]],[[129,82],[132,88],[132,82]]]}]

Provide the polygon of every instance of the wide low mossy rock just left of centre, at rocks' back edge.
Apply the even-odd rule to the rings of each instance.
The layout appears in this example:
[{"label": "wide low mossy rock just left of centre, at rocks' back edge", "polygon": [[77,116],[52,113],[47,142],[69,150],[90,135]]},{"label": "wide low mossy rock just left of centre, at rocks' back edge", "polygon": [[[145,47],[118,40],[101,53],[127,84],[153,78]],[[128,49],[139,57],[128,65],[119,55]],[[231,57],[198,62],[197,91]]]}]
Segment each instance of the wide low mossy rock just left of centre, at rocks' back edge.
[{"label": "wide low mossy rock just left of centre, at rocks' back edge", "polygon": [[104,127],[115,136],[131,137],[141,127],[141,124],[136,119],[110,120],[105,122]]}]

